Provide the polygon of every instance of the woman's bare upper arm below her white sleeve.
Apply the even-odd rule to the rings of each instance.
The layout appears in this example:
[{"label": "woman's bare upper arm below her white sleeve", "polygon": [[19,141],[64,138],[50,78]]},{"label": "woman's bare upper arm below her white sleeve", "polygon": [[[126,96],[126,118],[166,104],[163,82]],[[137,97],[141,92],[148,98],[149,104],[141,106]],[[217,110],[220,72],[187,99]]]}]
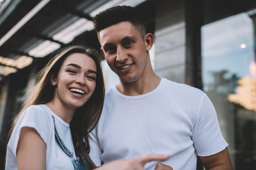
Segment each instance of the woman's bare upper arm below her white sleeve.
[{"label": "woman's bare upper arm below her white sleeve", "polygon": [[46,169],[46,144],[34,128],[21,129],[16,155],[18,170]]}]

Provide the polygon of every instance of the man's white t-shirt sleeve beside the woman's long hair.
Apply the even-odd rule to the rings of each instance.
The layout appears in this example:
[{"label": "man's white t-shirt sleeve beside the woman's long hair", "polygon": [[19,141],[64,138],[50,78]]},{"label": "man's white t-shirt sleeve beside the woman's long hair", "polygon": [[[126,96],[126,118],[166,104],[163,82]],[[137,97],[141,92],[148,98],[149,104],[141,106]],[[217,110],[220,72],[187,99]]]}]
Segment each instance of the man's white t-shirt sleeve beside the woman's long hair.
[{"label": "man's white t-shirt sleeve beside the woman's long hair", "polygon": [[89,133],[89,142],[90,142],[90,158],[95,163],[96,166],[101,166],[101,154],[103,153],[100,145],[99,139],[97,136],[97,127],[96,126],[93,131]]}]

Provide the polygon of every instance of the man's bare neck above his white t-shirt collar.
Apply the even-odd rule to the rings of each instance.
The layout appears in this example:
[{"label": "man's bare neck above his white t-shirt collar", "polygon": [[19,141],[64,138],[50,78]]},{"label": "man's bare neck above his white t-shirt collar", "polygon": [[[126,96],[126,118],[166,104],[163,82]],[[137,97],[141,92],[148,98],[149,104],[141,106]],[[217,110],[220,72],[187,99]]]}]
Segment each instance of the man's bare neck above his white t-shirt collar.
[{"label": "man's bare neck above his white t-shirt collar", "polygon": [[152,72],[150,75],[144,78],[141,77],[134,82],[127,83],[120,80],[120,84],[117,85],[117,89],[126,96],[138,96],[151,92],[159,85],[160,81],[161,78]]}]

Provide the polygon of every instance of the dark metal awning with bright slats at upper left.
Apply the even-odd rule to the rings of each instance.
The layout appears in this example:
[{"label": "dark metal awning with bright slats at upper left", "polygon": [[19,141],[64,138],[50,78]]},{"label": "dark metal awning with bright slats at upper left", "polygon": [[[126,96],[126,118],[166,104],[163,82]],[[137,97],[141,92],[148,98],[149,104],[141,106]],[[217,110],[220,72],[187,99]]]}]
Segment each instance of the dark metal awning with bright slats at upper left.
[{"label": "dark metal awning with bright slats at upper left", "polygon": [[98,12],[146,0],[0,0],[0,76],[30,65],[93,30]]}]

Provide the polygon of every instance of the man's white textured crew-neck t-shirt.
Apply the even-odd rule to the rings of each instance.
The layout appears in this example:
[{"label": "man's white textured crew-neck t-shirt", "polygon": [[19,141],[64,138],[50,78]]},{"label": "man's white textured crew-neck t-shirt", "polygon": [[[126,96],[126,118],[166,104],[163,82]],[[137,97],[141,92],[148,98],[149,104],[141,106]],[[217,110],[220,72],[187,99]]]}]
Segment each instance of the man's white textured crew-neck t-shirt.
[{"label": "man's white textured crew-neck t-shirt", "polygon": [[[89,135],[96,166],[158,153],[170,155],[162,163],[174,170],[196,170],[197,155],[213,155],[227,147],[207,95],[165,78],[139,96],[110,89],[99,123]],[[146,170],[153,170],[156,163],[147,163]]]}]

